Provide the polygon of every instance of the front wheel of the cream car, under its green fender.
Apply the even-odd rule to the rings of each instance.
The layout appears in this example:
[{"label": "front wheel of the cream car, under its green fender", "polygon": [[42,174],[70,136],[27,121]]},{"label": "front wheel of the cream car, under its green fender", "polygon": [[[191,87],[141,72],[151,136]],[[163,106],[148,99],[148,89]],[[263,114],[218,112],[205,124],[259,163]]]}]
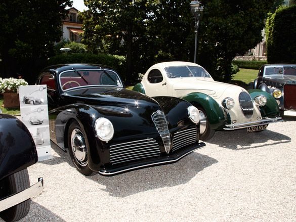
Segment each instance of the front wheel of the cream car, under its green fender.
[{"label": "front wheel of the cream car, under its green fender", "polygon": [[204,109],[201,108],[200,106],[197,106],[196,108],[199,111],[199,118],[200,118],[199,139],[202,141],[209,140],[214,136],[215,130],[210,128]]}]

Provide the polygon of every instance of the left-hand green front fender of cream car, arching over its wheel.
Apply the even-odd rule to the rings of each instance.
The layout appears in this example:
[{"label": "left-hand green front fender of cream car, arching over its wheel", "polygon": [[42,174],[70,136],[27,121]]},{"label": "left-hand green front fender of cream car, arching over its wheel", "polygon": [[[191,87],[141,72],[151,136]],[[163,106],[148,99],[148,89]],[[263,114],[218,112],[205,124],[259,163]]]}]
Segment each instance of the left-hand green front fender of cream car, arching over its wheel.
[{"label": "left-hand green front fender of cream car, arching over its wheel", "polygon": [[224,125],[230,120],[223,108],[206,94],[190,93],[182,97],[182,99],[196,107],[201,107],[205,111],[210,127],[214,130],[223,129]]}]

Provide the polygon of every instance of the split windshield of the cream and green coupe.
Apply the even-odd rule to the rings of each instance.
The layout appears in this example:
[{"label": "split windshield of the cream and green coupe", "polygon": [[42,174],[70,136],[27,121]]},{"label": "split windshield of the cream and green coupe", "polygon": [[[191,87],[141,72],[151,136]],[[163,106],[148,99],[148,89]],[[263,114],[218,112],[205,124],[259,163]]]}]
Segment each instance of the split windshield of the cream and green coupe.
[{"label": "split windshield of the cream and green coupe", "polygon": [[210,74],[199,66],[172,66],[164,69],[168,78],[179,78],[179,77],[208,77]]}]

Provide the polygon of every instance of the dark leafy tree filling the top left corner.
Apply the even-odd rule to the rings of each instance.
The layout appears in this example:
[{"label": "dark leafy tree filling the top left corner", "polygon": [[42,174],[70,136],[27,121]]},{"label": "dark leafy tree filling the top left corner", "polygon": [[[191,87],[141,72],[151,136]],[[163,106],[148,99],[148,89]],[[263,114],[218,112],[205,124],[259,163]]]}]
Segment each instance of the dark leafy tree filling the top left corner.
[{"label": "dark leafy tree filling the top left corner", "polygon": [[62,19],[70,0],[2,0],[0,2],[0,73],[23,75],[27,81],[53,54],[62,36]]}]

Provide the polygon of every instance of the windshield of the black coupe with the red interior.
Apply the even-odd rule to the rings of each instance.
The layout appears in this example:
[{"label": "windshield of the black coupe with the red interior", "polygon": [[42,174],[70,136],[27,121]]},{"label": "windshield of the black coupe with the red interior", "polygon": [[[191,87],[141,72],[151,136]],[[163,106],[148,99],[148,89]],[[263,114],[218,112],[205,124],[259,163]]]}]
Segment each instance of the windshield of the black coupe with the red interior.
[{"label": "windshield of the black coupe with the red interior", "polygon": [[103,69],[70,70],[60,74],[62,90],[86,85],[112,85],[123,87],[122,82],[114,71]]}]

